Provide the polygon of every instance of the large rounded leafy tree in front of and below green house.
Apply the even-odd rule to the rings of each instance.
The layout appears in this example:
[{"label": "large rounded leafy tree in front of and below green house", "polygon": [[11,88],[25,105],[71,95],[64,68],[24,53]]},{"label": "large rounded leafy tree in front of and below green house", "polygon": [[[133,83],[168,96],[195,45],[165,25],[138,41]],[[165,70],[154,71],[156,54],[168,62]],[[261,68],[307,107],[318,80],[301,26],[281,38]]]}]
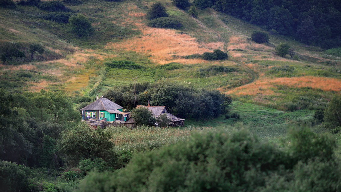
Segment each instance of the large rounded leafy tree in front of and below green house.
[{"label": "large rounded leafy tree in front of and below green house", "polygon": [[102,158],[110,163],[116,163],[112,135],[102,129],[94,130],[82,123],[62,133],[58,141],[59,151],[66,156],[72,165],[77,165],[84,159]]}]

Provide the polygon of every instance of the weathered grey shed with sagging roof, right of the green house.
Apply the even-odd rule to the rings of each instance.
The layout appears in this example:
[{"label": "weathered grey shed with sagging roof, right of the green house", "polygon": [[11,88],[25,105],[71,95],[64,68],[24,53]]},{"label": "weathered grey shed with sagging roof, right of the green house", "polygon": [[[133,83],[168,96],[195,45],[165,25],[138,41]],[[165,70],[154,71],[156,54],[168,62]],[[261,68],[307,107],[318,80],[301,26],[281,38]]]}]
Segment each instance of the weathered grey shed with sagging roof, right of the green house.
[{"label": "weathered grey shed with sagging roof, right of the green house", "polygon": [[154,118],[159,118],[162,114],[166,114],[168,118],[169,126],[183,126],[183,121],[185,119],[181,119],[169,113],[169,110],[166,106],[146,106],[146,105],[137,105],[136,108],[144,107],[147,108],[152,114]]}]

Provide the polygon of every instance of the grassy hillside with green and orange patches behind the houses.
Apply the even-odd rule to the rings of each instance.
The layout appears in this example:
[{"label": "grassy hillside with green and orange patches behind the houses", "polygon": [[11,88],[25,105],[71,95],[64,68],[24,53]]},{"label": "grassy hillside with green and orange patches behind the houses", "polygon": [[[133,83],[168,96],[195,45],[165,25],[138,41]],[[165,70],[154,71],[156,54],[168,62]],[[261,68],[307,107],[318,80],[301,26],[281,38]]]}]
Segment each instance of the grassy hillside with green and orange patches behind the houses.
[{"label": "grassy hillside with green and orange patches behind the houses", "polygon": [[[145,14],[154,2],[86,1],[70,6],[86,15],[95,29],[91,37],[81,39],[69,35],[64,24],[40,19],[40,14],[46,12],[35,7],[1,9],[0,41],[15,41],[26,46],[39,42],[48,50],[39,55],[44,61],[1,65],[1,85],[13,91],[48,89],[78,95],[87,94],[98,81],[102,85],[99,93],[131,83],[134,77],[138,81],[180,81],[231,94],[234,100],[241,101],[234,102],[231,111],[238,112],[240,121],[262,137],[283,135],[286,132],[283,127],[288,122],[311,118],[315,109],[324,108],[333,95],[340,94],[340,59],[318,47],[273,35],[269,44],[256,44],[249,37],[253,30],[262,29],[212,9],[199,10],[199,18],[195,19],[174,7],[170,0],[161,2],[170,16],[180,20],[184,27],[181,30],[148,28]],[[280,42],[293,47],[299,59],[274,55],[274,47]],[[216,48],[228,51],[229,59],[214,62],[183,59],[183,56]],[[98,78],[103,75],[99,69],[110,60],[130,60],[147,69],[110,69],[104,80]],[[160,69],[160,65],[170,62],[184,67]],[[200,69],[212,65],[238,70],[199,75]],[[286,66],[293,70],[283,70]],[[23,78],[22,73],[30,73],[32,77]],[[301,108],[303,101],[308,102],[308,109],[283,112],[288,103]],[[187,121],[187,124],[222,128],[235,123],[234,119],[225,120],[224,116],[204,123]]]}]

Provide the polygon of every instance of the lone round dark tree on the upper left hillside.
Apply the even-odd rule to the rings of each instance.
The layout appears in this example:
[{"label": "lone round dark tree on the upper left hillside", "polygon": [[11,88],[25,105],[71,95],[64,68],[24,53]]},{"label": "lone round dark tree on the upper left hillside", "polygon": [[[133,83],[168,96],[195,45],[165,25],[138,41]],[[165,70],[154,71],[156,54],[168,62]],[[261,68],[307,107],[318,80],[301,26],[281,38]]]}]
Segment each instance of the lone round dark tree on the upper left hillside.
[{"label": "lone round dark tree on the upper left hillside", "polygon": [[79,37],[90,36],[94,31],[89,20],[80,13],[69,18],[68,29]]}]

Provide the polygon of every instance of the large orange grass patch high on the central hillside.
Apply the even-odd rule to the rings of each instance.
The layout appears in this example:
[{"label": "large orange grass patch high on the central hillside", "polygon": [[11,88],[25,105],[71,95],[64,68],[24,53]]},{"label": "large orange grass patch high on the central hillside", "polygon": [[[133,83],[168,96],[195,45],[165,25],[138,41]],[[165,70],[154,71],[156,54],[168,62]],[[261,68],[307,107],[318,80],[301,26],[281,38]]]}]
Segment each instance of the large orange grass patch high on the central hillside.
[{"label": "large orange grass patch high on the central hillside", "polygon": [[[109,43],[106,48],[142,52],[150,55],[154,62],[164,64],[178,59],[173,55],[202,54],[213,49],[222,49],[224,46],[223,42],[199,44],[196,38],[187,34],[178,34],[171,29],[150,28],[140,23],[135,23],[135,25],[143,32],[143,36],[134,37],[124,42]],[[202,62],[202,60],[184,59],[181,62],[190,64]]]}]

